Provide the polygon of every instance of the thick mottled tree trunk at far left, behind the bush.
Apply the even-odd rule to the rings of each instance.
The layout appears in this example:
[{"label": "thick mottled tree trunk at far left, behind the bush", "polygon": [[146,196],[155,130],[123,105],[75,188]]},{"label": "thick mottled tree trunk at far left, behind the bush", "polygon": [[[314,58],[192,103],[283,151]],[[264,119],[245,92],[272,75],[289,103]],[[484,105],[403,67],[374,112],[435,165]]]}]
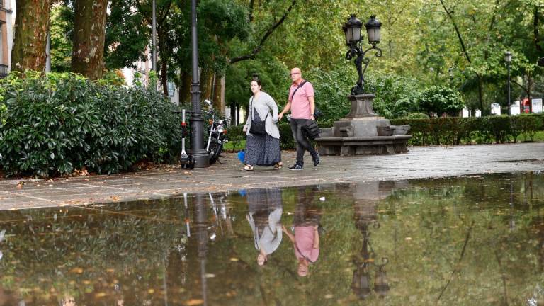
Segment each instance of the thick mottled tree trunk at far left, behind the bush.
[{"label": "thick mottled tree trunk at far left, behind the bush", "polygon": [[16,0],[11,70],[45,69],[51,0]]}]

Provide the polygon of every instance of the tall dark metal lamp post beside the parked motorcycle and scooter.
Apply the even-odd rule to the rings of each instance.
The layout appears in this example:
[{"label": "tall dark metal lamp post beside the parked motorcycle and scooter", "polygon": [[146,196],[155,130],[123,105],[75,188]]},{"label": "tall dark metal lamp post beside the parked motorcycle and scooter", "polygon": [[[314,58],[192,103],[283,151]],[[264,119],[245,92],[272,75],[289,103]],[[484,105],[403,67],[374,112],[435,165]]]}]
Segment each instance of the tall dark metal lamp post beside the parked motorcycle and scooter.
[{"label": "tall dark metal lamp post beside the parked motorcycle and scooter", "polygon": [[198,77],[198,32],[196,29],[196,0],[191,0],[191,37],[193,44],[193,81],[191,86],[191,103],[193,115],[191,116],[191,151],[195,158],[196,168],[210,166],[210,155],[204,149],[204,118],[200,108],[200,81]]}]

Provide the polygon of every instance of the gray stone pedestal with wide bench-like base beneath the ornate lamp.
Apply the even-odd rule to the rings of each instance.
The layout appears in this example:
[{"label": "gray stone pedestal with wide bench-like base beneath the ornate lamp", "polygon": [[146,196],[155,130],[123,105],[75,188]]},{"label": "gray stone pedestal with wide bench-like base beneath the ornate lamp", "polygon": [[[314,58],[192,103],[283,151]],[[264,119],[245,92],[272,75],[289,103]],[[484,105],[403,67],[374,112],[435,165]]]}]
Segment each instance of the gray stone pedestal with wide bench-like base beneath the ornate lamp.
[{"label": "gray stone pedestal with wide bench-like base beneath the ornate lamp", "polygon": [[395,126],[374,113],[372,94],[350,95],[351,111],[316,142],[321,155],[396,154],[408,152],[408,125]]}]

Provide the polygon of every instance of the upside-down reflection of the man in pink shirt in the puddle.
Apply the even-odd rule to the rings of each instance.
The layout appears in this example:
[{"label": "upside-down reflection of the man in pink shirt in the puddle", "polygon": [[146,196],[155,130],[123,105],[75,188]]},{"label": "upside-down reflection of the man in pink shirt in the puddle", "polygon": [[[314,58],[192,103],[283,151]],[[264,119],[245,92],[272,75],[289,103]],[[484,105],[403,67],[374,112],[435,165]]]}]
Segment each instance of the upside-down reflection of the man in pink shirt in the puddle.
[{"label": "upside-down reflection of the man in pink shirt in the puddle", "polygon": [[298,261],[298,275],[307,276],[308,266],[315,263],[319,257],[319,210],[312,207],[313,193],[306,194],[304,187],[298,188],[297,207],[295,208],[295,233],[282,227],[291,242]]}]

